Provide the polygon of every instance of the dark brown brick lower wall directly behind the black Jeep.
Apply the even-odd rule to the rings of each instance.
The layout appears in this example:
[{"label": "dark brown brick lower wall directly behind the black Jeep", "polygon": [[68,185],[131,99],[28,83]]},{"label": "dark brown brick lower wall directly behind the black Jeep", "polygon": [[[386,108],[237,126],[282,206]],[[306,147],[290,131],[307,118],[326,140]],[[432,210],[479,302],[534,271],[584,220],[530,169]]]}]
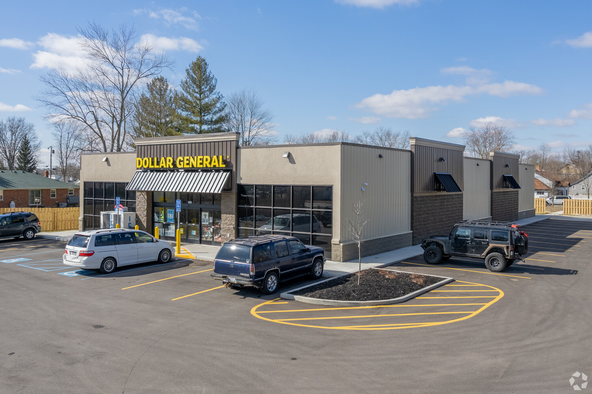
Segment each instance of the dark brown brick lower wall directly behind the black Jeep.
[{"label": "dark brown brick lower wall directly behind the black Jeep", "polygon": [[462,193],[435,193],[411,197],[413,244],[430,235],[448,235],[462,220]]}]

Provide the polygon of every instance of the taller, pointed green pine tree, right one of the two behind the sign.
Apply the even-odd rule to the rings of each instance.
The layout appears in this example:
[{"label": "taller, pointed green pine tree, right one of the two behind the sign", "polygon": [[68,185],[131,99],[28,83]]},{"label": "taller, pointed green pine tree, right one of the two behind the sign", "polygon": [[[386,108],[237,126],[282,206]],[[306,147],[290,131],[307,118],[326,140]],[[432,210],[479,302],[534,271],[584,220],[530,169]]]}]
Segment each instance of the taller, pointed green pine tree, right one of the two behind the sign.
[{"label": "taller, pointed green pine tree, right one of the two behind the sign", "polygon": [[224,130],[223,96],[216,91],[218,80],[208,70],[201,56],[189,64],[186,78],[181,81],[181,112],[178,130],[182,133],[220,133]]}]

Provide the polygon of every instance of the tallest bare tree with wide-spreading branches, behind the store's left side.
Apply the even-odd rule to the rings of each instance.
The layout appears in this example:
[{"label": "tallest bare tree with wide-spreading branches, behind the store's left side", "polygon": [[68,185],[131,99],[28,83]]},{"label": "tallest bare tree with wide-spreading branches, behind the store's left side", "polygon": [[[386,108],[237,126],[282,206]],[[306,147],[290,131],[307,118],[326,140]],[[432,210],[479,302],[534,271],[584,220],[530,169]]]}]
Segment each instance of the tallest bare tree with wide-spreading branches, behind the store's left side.
[{"label": "tallest bare tree with wide-spreading branches, behind the store's left side", "polygon": [[150,44],[136,42],[133,27],[110,32],[92,23],[79,33],[85,66],[76,72],[59,67],[41,76],[46,89],[36,99],[46,109],[46,120],[80,122],[88,148],[124,150],[133,92],[173,62]]}]

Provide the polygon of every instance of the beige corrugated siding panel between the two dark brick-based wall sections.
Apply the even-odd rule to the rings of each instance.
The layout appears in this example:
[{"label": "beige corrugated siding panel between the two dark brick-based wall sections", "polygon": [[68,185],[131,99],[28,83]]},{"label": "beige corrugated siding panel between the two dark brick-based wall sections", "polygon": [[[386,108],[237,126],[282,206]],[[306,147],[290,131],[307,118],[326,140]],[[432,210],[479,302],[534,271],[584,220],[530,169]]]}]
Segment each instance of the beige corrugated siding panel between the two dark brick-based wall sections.
[{"label": "beige corrugated siding panel between the two dark brick-based wall sections", "polygon": [[464,158],[464,220],[491,217],[490,163],[489,160]]}]

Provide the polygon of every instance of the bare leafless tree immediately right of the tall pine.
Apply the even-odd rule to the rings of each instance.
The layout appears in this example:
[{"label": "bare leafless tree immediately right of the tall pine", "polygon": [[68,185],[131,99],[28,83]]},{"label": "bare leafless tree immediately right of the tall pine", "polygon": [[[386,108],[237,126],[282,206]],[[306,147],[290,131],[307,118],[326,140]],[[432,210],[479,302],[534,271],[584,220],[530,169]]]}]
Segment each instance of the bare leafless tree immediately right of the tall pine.
[{"label": "bare leafless tree immediately right of the tall pine", "polygon": [[269,145],[275,141],[274,114],[263,108],[257,92],[242,89],[232,93],[226,102],[224,125],[228,131],[240,133],[240,145]]}]

